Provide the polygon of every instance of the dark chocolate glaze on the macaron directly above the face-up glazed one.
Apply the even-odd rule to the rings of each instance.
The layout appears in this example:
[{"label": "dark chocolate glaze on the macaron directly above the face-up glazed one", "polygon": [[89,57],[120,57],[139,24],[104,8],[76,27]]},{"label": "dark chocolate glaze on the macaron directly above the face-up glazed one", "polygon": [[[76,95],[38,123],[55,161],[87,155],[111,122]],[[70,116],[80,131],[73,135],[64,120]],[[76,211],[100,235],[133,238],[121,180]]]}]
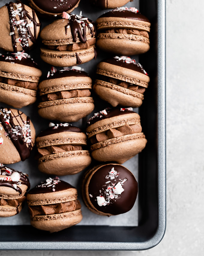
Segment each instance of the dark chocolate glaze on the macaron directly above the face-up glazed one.
[{"label": "dark chocolate glaze on the macaron directly above the face-up glazed one", "polygon": [[107,115],[99,114],[97,117],[93,117],[93,119],[89,120],[87,122],[87,127],[90,126],[91,124],[94,124],[103,119],[107,119],[110,117],[117,117],[117,116],[121,116],[124,114],[136,113],[134,111],[127,110],[127,109],[122,111],[122,110],[120,110],[120,108],[110,108],[110,109],[107,109],[106,112],[107,112]]}]

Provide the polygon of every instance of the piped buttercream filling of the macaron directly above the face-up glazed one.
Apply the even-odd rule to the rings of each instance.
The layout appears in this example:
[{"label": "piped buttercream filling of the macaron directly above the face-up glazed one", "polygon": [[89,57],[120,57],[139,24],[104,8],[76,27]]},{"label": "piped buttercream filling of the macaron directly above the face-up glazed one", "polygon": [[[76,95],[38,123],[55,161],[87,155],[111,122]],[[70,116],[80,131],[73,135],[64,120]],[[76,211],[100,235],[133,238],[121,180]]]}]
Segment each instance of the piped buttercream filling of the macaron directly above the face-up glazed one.
[{"label": "piped buttercream filling of the macaron directly above the face-up glazed one", "polygon": [[133,134],[133,133],[141,133],[142,127],[140,124],[125,124],[123,126],[120,126],[118,128],[109,129],[105,131],[104,133],[98,133],[91,137],[90,141],[92,144],[96,144],[98,142],[102,142],[108,139],[113,139],[116,137]]}]

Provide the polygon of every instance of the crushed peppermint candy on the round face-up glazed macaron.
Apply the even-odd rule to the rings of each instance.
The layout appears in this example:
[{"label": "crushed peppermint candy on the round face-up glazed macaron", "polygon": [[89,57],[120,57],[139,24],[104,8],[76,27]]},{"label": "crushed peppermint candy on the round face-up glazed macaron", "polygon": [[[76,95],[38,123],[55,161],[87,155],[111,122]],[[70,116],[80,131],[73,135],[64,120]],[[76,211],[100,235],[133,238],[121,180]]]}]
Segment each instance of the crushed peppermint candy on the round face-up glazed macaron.
[{"label": "crushed peppermint candy on the round face-up glazed macaron", "polygon": [[[100,195],[96,197],[97,203],[99,206],[106,206],[108,204],[111,204],[116,199],[120,198],[120,195],[122,192],[124,192],[123,185],[127,181],[127,179],[118,179],[119,173],[114,169],[114,167],[110,170],[110,172],[107,174],[106,179],[108,180],[105,182],[102,191],[100,192]],[[91,197],[91,195],[89,195]]]}]

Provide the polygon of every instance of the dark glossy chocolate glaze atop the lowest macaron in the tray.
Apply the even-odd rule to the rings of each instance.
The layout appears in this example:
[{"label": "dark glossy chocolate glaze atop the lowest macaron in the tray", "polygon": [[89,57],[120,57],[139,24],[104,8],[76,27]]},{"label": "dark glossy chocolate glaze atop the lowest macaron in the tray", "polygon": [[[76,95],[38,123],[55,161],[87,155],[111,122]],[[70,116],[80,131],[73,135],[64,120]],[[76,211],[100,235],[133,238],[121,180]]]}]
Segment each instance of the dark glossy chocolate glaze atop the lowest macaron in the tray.
[{"label": "dark glossy chocolate glaze atop the lowest macaron in the tray", "polygon": [[[39,184],[41,185],[41,184]],[[73,187],[72,185],[70,185],[69,183],[60,180],[60,182],[58,182],[58,184],[55,184],[55,191],[52,190],[52,186],[50,187],[38,187],[36,186],[35,188],[31,189],[29,191],[28,194],[45,194],[45,193],[51,193],[51,192],[58,192],[58,191],[62,191],[62,190],[66,190],[66,189],[74,189],[75,187]]]}]

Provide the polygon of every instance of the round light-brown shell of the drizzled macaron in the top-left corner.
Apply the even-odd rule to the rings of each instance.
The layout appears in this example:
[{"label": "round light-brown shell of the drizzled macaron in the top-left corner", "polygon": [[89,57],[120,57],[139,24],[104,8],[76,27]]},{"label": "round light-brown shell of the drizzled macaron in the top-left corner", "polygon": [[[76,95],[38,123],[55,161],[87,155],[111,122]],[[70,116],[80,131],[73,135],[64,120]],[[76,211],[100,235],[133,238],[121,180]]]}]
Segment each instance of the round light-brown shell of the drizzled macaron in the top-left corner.
[{"label": "round light-brown shell of the drizzled macaron in the top-left corner", "polygon": [[[17,9],[15,6],[18,4],[19,3],[14,4],[15,9]],[[13,9],[11,9],[11,8],[13,8],[12,2],[7,4],[7,6],[4,5],[3,7],[0,8],[0,17],[1,17],[0,48],[5,51],[9,51],[9,52],[18,52],[18,51],[22,51],[22,50],[28,50],[35,43],[35,41],[38,37],[38,34],[40,32],[40,23],[39,23],[38,17],[29,6],[22,5],[22,3],[21,3],[21,6],[19,7],[18,11],[20,12],[20,14],[22,14],[22,11],[24,11],[24,16],[26,16],[26,17],[22,17],[22,15],[21,15],[19,18],[18,15],[15,16],[14,14],[13,14],[14,16],[12,16],[11,12],[13,11]],[[22,9],[20,10],[20,8],[22,8]],[[10,15],[9,15],[9,13],[10,13]],[[16,18],[16,20],[24,19],[24,21],[26,21],[26,23],[28,23],[28,24],[30,24],[32,21],[34,23],[34,25],[29,27],[30,32],[29,32],[29,30],[27,30],[26,25],[23,27],[24,29],[27,30],[25,33],[25,38],[26,38],[26,40],[24,41],[25,44],[22,44],[22,41],[19,41],[19,42],[15,41],[16,39],[21,37],[20,34],[17,32],[16,27],[14,30],[14,34],[10,35],[11,27],[10,27],[9,22],[13,17]],[[27,41],[28,41],[28,43],[27,43]],[[15,47],[15,45],[16,45],[16,47]],[[21,45],[23,45],[23,47]]]}]

